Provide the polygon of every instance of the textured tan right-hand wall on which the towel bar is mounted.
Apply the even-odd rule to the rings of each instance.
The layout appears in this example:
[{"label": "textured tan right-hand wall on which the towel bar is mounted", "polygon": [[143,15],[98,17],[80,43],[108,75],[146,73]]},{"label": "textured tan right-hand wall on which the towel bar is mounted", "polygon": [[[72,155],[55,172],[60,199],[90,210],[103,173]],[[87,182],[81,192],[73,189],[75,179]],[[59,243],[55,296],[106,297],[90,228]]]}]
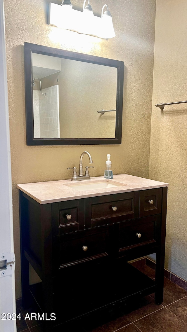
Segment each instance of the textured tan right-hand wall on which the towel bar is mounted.
[{"label": "textured tan right-hand wall on which the towel bar is mounted", "polygon": [[149,178],[169,183],[165,267],[187,280],[187,104],[185,0],[157,0]]}]

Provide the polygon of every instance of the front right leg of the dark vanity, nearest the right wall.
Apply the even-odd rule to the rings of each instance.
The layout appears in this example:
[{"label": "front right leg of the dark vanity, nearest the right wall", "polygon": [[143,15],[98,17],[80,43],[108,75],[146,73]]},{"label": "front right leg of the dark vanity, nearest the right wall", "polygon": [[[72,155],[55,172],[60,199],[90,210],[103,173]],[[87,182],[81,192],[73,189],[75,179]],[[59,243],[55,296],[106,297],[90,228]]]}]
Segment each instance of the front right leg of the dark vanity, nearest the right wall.
[{"label": "front right leg of the dark vanity, nearest the right wall", "polygon": [[165,236],[166,236],[166,208],[167,208],[167,187],[162,189],[162,218],[161,218],[161,242],[160,249],[156,253],[156,271],[155,271],[155,302],[163,302],[164,290],[164,260],[165,260]]}]

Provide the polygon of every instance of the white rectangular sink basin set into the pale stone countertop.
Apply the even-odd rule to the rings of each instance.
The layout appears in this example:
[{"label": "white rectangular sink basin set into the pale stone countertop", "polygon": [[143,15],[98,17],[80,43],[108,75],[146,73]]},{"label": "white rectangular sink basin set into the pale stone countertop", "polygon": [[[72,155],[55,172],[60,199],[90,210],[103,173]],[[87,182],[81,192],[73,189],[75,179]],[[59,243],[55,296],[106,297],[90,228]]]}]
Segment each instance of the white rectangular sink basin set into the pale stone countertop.
[{"label": "white rectangular sink basin set into the pale stone countertop", "polygon": [[[89,181],[89,180],[86,180],[86,181]],[[68,186],[75,190],[84,191],[84,190],[120,187],[120,186],[125,186],[125,184],[115,182],[113,180],[103,180],[103,181],[98,181],[98,182],[94,181],[94,182],[89,182],[89,183],[72,183],[72,184],[66,184],[65,186]]]}]

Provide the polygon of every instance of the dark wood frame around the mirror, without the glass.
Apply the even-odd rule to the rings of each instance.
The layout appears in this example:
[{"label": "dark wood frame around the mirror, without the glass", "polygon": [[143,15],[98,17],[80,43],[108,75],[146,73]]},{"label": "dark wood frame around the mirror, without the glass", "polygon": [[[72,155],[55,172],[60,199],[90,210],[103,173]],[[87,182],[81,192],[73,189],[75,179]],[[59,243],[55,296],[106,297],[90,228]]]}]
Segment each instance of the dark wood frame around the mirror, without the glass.
[{"label": "dark wood frame around the mirror, without the glass", "polygon": [[[115,138],[34,138],[32,53],[117,68]],[[53,47],[24,43],[27,145],[121,144],[124,62]]]}]

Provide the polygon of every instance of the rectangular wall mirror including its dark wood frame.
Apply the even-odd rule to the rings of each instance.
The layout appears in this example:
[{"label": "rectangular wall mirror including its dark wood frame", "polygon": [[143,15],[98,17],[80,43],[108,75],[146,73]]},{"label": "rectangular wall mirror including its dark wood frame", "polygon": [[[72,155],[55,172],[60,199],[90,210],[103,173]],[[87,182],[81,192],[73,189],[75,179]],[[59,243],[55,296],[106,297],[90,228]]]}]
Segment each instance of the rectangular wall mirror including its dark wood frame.
[{"label": "rectangular wall mirror including its dark wood frame", "polygon": [[120,144],[122,61],[24,44],[27,145]]}]

